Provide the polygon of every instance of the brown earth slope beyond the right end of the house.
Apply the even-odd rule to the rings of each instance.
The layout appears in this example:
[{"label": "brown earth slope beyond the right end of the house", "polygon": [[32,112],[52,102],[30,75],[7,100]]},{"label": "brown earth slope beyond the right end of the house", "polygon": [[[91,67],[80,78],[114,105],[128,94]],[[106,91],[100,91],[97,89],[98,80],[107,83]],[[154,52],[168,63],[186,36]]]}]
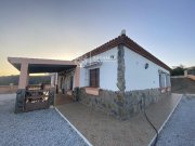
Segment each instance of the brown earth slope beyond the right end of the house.
[{"label": "brown earth slope beyond the right end of the house", "polygon": [[188,78],[171,78],[173,93],[195,94],[195,81]]}]

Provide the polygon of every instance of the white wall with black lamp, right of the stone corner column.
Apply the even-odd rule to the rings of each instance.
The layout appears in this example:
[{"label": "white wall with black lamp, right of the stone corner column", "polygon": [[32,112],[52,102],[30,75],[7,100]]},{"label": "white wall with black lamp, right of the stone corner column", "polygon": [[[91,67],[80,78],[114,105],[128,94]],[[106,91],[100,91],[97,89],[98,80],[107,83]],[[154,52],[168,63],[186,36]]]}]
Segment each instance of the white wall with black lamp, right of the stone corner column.
[{"label": "white wall with black lamp, right of the stone corner column", "polygon": [[[148,68],[145,69],[145,64]],[[165,72],[168,70],[154,64],[147,58],[125,47],[125,64],[126,64],[126,91],[144,90],[159,88],[159,74],[161,69]]]}]

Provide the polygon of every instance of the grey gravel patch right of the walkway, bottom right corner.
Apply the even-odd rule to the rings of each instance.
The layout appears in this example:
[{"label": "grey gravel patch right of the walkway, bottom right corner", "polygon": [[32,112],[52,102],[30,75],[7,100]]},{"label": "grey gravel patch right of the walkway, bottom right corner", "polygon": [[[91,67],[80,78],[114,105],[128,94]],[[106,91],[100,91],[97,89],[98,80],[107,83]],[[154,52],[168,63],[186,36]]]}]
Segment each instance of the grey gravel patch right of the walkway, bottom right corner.
[{"label": "grey gravel patch right of the walkway, bottom right corner", "polygon": [[184,96],[160,132],[157,146],[195,146],[195,96]]}]

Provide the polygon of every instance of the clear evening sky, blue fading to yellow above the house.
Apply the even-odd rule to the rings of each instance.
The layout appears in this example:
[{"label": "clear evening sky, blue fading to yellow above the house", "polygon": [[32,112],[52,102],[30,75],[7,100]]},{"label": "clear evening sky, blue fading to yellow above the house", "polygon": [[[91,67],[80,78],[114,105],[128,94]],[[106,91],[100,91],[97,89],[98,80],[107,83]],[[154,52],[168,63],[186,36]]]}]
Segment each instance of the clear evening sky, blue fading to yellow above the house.
[{"label": "clear evening sky, blue fading to yellow above the house", "polygon": [[194,0],[0,0],[0,76],[8,56],[74,59],[126,35],[168,66],[195,66]]}]

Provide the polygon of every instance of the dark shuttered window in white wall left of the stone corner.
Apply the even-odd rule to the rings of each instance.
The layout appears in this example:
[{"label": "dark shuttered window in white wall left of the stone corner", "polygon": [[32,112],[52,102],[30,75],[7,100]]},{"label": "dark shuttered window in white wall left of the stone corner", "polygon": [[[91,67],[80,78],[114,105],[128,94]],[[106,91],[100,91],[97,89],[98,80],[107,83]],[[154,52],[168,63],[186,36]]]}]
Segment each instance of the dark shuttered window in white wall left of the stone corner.
[{"label": "dark shuttered window in white wall left of the stone corner", "polygon": [[100,87],[100,68],[90,69],[90,87],[91,88]]}]

